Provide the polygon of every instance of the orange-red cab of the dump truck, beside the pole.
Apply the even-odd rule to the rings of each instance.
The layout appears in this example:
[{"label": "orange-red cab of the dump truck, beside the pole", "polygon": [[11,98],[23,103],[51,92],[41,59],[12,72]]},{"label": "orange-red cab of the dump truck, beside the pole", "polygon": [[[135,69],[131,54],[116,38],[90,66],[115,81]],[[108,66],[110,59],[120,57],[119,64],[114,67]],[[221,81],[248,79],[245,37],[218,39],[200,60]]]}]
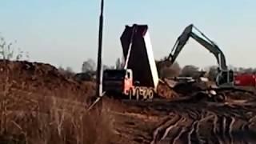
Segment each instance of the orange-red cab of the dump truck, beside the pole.
[{"label": "orange-red cab of the dump truck, beside the pole", "polygon": [[130,69],[104,70],[103,91],[110,94],[129,94],[133,89],[133,73]]}]

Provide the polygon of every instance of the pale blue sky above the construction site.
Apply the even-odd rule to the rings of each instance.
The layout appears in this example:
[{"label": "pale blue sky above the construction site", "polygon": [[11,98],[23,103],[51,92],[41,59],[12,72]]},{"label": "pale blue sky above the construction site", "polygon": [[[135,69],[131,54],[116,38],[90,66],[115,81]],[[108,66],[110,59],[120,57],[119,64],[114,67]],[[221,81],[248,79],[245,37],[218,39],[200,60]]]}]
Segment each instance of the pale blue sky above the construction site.
[{"label": "pale blue sky above the construction site", "polygon": [[[122,56],[120,36],[125,25],[147,24],[154,57],[170,53],[182,30],[194,23],[226,54],[228,65],[256,67],[256,1],[106,0],[104,64]],[[96,61],[98,0],[2,0],[0,34],[30,53],[30,61],[71,66],[80,71],[87,58]],[[212,54],[193,39],[177,61],[182,65],[216,64]]]}]

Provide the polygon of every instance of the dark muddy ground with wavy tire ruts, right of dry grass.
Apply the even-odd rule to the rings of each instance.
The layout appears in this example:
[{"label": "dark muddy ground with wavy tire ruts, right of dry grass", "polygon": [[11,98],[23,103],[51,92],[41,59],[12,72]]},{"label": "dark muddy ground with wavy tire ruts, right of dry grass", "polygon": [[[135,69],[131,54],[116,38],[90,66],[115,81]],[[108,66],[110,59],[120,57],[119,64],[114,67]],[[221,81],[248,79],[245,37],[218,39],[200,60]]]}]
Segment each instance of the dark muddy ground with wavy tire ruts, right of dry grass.
[{"label": "dark muddy ground with wavy tire ruts, right of dry grass", "polygon": [[[122,102],[110,111],[132,143],[254,143],[256,103]],[[121,108],[122,107],[122,108]],[[118,110],[118,111],[117,111]]]}]

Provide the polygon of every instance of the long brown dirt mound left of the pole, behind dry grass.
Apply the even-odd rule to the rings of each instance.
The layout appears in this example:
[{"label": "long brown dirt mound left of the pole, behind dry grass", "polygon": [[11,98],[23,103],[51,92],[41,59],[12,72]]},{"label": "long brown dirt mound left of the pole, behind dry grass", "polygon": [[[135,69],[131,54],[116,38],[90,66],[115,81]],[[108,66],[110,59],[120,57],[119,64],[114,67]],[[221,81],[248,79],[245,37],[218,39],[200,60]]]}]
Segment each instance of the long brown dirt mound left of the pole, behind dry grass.
[{"label": "long brown dirt mound left of the pole, behind dry grass", "polygon": [[68,78],[54,66],[39,62],[0,61],[0,82],[12,90],[23,90],[49,96],[68,98],[76,95],[76,99],[84,101],[94,95],[93,82],[78,82]]}]

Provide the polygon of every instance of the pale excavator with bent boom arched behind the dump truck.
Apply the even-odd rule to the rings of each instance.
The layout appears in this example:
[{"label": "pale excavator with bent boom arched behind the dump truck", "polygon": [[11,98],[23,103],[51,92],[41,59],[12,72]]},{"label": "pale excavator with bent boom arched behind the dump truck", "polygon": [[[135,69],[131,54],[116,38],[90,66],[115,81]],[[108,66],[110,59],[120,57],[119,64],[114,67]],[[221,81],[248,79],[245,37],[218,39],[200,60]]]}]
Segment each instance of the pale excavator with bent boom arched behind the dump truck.
[{"label": "pale excavator with bent boom arched behind the dump truck", "polygon": [[[195,34],[193,30],[197,30],[199,34],[202,35],[202,38]],[[205,34],[203,34],[197,27],[193,24],[186,26],[185,30],[183,30],[182,34],[178,37],[177,41],[174,43],[174,46],[169,54],[169,56],[163,60],[163,62],[170,62],[173,64],[178,58],[178,54],[182,51],[183,47],[186,45],[186,42],[189,41],[190,38],[193,38],[196,42],[201,44],[209,50],[211,54],[214,54],[214,57],[217,59],[218,62],[218,75],[216,77],[216,85],[217,86],[232,86],[234,82],[234,71],[229,70],[226,66],[226,58],[223,54],[222,50],[218,47],[216,43],[207,38]]]}]

